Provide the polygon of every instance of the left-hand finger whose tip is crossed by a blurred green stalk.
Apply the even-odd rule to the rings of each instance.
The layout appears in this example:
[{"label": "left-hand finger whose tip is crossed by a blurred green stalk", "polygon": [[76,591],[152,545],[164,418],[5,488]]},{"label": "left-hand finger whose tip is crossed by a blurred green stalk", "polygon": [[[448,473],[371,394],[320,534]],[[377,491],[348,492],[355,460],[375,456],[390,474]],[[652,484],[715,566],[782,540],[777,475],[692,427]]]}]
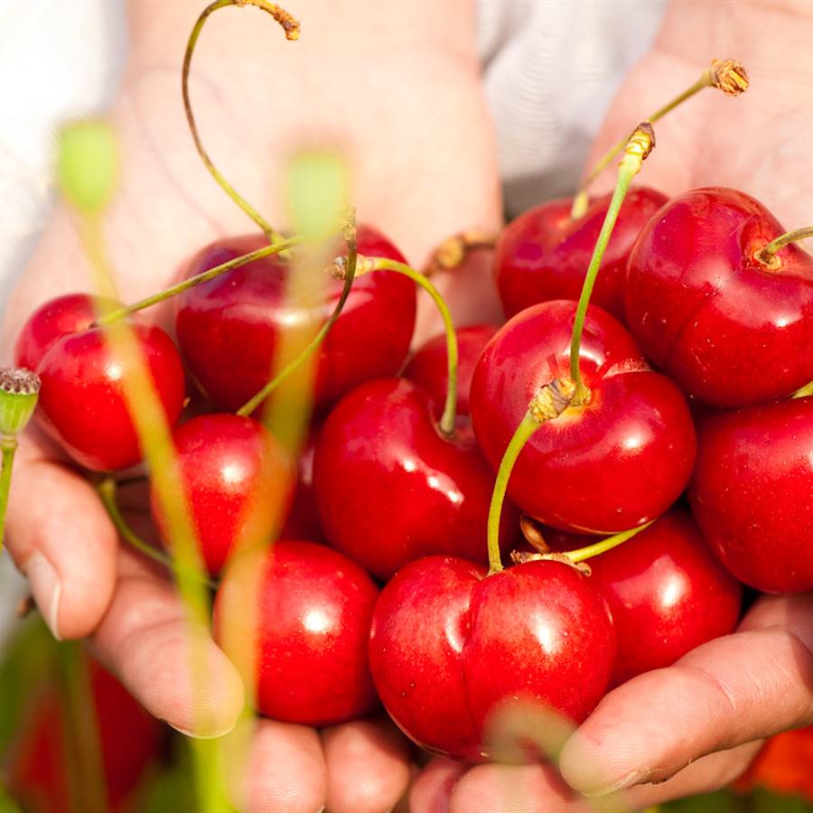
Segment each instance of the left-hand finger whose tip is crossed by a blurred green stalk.
[{"label": "left-hand finger whose tip is crossed by a blurred green stalk", "polygon": [[173,585],[128,550],[92,644],[151,715],[183,734],[219,736],[237,722],[244,703],[237,669],[189,620]]}]

